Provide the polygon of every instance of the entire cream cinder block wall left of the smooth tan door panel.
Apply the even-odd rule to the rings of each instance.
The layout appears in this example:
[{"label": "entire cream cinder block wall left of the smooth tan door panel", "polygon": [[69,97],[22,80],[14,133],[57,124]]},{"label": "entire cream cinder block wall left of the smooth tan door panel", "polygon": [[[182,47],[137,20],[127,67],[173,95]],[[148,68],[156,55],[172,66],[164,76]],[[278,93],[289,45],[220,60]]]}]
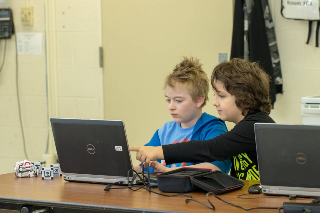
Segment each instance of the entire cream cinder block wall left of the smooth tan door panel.
[{"label": "entire cream cinder block wall left of the smooth tan door panel", "polygon": [[[31,161],[44,160],[48,140],[49,156],[56,152],[48,118],[103,118],[100,4],[100,0],[0,3],[1,8],[12,9],[16,33],[42,34],[42,55],[18,56],[21,120]],[[21,24],[21,7],[26,6],[33,6],[33,26]],[[15,48],[13,35],[7,40],[0,73],[0,174],[13,172],[14,163],[26,159],[15,85]],[[4,40],[0,40],[0,61],[3,52]]]}]

